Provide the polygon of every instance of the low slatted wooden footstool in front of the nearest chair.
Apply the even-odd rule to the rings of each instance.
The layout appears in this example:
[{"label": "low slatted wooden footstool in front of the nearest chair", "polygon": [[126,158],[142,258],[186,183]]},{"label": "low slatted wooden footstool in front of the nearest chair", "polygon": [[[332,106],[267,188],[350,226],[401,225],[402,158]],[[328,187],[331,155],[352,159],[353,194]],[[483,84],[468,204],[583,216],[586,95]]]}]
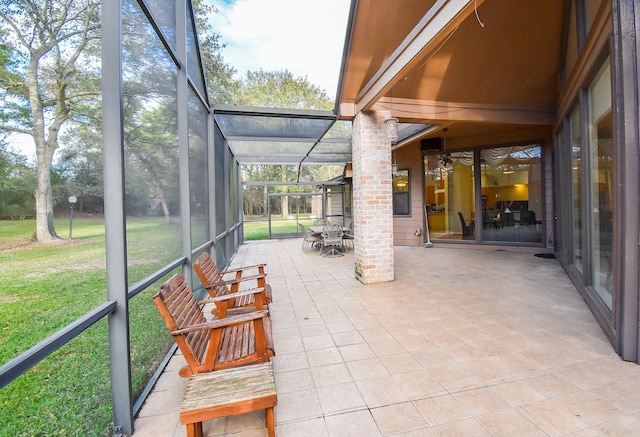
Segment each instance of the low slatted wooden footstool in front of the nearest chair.
[{"label": "low slatted wooden footstool in front of the nearest chair", "polygon": [[275,436],[278,403],[271,362],[216,370],[189,378],[180,407],[188,437],[202,437],[202,422],[265,409],[269,437]]}]

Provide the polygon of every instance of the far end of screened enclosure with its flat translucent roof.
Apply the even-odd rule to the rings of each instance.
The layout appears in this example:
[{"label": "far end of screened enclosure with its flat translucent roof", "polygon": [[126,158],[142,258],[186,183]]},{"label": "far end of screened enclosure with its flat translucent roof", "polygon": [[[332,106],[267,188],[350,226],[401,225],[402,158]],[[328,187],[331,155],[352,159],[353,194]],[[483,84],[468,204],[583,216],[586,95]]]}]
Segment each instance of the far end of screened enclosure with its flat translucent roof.
[{"label": "far end of screened enclosure with its flat translucent roof", "polygon": [[[304,167],[336,167],[351,161],[351,123],[333,112],[215,105],[213,117],[239,165],[245,191],[244,221],[267,221],[268,238],[299,236],[298,223],[324,217],[326,181],[309,180]],[[296,175],[245,180],[243,166],[286,166]],[[339,215],[343,215],[342,212]]]}]

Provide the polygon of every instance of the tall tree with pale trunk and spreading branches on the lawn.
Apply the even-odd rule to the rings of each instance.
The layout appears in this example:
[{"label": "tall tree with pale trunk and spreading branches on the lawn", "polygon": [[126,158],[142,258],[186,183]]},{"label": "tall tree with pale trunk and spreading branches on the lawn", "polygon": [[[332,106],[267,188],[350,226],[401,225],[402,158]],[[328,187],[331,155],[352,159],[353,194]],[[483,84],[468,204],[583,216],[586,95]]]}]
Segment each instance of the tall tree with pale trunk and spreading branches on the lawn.
[{"label": "tall tree with pale trunk and spreading branches on the lawn", "polygon": [[99,94],[99,0],[0,1],[0,130],[36,147],[36,238],[57,238],[51,169],[74,108]]}]

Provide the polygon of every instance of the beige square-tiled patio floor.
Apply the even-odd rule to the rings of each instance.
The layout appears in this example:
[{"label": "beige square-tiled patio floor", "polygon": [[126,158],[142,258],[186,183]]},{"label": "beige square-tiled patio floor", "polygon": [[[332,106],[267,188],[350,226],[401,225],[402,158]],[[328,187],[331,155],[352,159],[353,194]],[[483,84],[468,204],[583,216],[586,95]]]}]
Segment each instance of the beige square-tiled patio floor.
[{"label": "beige square-tiled patio floor", "polygon": [[[276,433],[288,436],[640,435],[640,366],[613,351],[559,263],[536,251],[396,247],[395,280],[354,279],[353,251],[244,244],[273,287]],[[135,437],[183,436],[172,359]],[[263,412],[206,422],[266,436]]]}]

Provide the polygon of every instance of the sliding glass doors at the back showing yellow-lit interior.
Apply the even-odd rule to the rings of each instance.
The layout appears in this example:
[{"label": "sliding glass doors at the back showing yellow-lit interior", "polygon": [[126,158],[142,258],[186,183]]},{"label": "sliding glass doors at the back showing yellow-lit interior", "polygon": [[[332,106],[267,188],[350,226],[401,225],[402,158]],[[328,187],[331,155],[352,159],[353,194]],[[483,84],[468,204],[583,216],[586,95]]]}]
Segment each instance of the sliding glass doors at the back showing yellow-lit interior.
[{"label": "sliding glass doors at the back showing yellow-lit interior", "polygon": [[[476,153],[481,161],[479,212],[474,152],[425,156],[425,199],[432,238],[542,243],[540,145]],[[476,235],[478,220],[480,235]]]}]

